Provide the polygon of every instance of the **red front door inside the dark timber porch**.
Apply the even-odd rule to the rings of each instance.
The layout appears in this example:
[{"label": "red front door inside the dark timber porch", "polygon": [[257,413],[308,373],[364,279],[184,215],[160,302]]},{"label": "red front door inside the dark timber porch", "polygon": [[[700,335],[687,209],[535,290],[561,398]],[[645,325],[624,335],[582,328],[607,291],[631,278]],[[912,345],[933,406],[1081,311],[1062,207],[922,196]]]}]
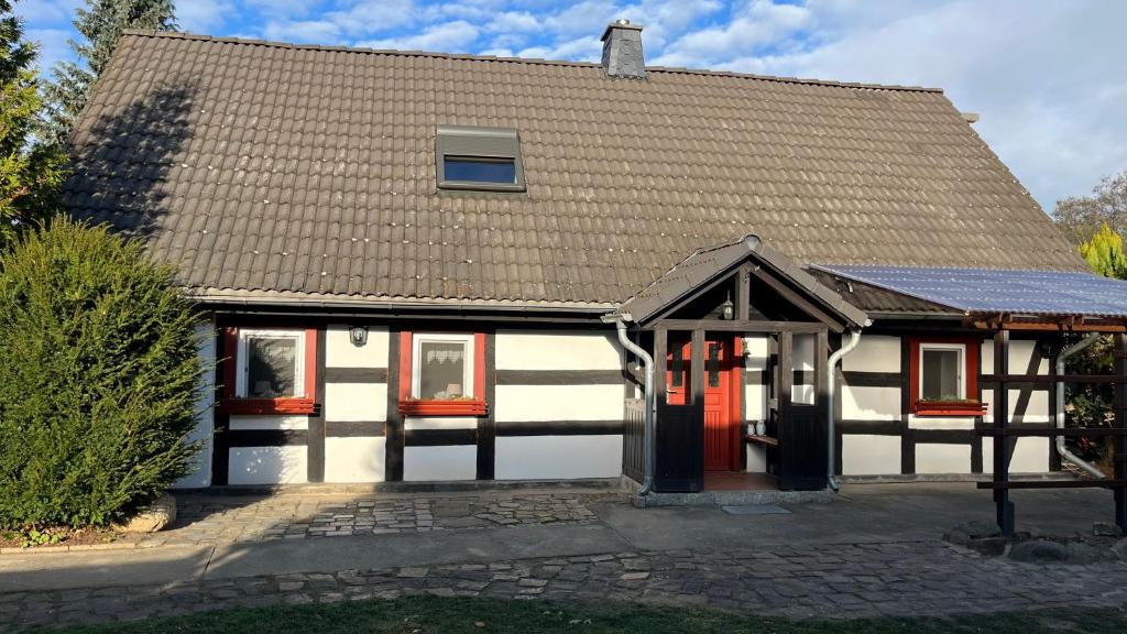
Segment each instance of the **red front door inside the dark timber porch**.
[{"label": "red front door inside the dark timber porch", "polygon": [[[691,388],[692,346],[671,333],[666,371],[669,405],[684,405]],[[739,470],[739,341],[704,340],[704,470]]]}]

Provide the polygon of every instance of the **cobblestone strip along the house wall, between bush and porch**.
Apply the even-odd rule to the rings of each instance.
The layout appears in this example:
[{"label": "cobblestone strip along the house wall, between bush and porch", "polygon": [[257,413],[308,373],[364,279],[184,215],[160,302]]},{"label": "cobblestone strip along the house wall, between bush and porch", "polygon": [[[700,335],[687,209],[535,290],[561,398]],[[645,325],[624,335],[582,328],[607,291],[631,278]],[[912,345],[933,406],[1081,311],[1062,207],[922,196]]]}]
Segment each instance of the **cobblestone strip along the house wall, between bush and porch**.
[{"label": "cobblestone strip along the house wall, between bush and porch", "polygon": [[476,494],[272,497],[181,495],[171,529],[143,538],[142,547],[266,541],[311,537],[465,530],[529,523],[594,521],[592,499],[621,494]]}]

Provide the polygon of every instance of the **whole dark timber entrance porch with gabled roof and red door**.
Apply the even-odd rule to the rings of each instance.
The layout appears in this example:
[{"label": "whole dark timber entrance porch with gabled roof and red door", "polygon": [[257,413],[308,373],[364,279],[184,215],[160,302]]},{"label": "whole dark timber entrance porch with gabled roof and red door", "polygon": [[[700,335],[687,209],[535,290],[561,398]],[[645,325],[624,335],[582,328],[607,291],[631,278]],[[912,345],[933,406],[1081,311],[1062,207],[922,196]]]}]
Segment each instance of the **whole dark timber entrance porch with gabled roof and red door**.
[{"label": "whole dark timber entrance porch with gabled roof and red door", "polygon": [[[655,395],[656,491],[696,492],[706,470],[744,470],[748,442],[766,447],[765,469],[780,488],[826,486],[829,333],[863,327],[869,323],[864,311],[749,235],[692,253],[624,301],[618,316],[633,323],[633,336],[650,346],[663,368],[665,388]],[[760,353],[770,377],[762,434],[744,429],[740,407],[742,345],[749,337],[766,346]],[[792,398],[796,337],[805,337],[811,356],[813,390],[804,393],[809,398]],[[687,380],[681,380],[685,373]],[[639,479],[645,463],[640,400],[628,399],[627,417],[623,468]]]}]

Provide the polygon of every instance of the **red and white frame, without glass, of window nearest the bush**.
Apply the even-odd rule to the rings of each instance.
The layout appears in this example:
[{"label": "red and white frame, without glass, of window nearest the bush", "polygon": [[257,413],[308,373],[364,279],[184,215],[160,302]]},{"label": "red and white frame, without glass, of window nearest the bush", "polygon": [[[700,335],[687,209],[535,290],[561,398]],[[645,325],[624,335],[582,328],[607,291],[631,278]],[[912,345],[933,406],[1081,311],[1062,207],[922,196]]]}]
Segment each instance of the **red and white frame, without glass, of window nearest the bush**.
[{"label": "red and white frame, without glass, of window nearest the bush", "polygon": [[[247,397],[247,342],[254,336],[292,336],[294,384],[300,395],[277,398]],[[227,414],[314,414],[317,412],[317,329],[293,327],[228,327],[223,332],[224,371],[220,410]]]}]

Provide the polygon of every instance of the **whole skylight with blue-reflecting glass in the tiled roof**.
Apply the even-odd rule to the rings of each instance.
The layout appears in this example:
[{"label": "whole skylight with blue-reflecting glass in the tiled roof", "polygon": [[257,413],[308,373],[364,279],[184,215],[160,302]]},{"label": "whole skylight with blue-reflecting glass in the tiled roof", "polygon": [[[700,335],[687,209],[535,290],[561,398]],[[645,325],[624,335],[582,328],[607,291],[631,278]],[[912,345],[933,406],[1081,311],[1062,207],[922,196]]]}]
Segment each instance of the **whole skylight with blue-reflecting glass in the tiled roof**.
[{"label": "whole skylight with blue-reflecting glass in the tiled roof", "polygon": [[438,188],[523,192],[521,138],[515,130],[440,125]]}]

